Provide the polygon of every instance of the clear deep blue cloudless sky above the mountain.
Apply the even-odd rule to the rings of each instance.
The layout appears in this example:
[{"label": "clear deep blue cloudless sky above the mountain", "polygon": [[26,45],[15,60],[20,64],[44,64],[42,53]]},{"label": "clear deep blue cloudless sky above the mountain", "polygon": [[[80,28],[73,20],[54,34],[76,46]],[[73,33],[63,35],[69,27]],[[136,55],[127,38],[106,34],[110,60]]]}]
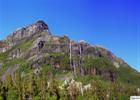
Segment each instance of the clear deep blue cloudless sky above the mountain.
[{"label": "clear deep blue cloudless sky above the mountain", "polygon": [[0,0],[0,39],[39,19],[52,34],[100,44],[140,71],[140,0]]}]

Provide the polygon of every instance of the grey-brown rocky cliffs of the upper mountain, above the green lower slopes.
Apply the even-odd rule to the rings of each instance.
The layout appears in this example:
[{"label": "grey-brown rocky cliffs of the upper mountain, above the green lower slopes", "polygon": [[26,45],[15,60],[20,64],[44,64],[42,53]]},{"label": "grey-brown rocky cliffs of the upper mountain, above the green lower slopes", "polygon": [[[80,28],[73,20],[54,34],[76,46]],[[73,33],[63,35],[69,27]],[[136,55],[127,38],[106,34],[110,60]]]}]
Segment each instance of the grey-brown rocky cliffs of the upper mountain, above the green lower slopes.
[{"label": "grey-brown rocky cliffs of the upper mountain, above the green lower slopes", "polygon": [[16,71],[10,72],[9,68],[17,69],[28,62],[28,68],[35,73],[45,64],[72,71],[74,75],[99,75],[110,81],[120,77],[118,69],[127,68],[135,72],[122,59],[101,46],[52,35],[48,25],[41,20],[16,30],[0,41],[0,75],[3,79]]}]

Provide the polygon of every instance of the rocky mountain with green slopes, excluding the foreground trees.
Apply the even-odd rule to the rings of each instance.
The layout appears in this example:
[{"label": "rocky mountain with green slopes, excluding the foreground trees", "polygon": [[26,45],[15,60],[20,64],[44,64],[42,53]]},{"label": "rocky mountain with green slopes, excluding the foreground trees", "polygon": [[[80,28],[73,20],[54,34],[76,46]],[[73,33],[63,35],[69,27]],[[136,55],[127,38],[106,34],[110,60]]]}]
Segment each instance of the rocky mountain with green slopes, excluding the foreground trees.
[{"label": "rocky mountain with green slopes, excluding the foreground trees", "polygon": [[1,81],[17,72],[21,77],[47,72],[47,76],[58,80],[99,77],[111,84],[140,87],[140,73],[111,51],[84,40],[76,42],[68,36],[52,35],[42,20],[0,41]]}]

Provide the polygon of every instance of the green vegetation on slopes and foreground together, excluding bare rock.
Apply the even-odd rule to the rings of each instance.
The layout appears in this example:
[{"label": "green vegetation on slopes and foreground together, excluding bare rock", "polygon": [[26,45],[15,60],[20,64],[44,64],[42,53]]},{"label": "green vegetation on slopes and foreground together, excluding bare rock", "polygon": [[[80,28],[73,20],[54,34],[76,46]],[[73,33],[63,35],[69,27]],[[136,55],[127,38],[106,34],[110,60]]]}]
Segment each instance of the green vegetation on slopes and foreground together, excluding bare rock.
[{"label": "green vegetation on slopes and foreground together, excluding bare rock", "polygon": [[[16,48],[21,50],[28,49],[32,41]],[[139,87],[139,73],[133,71],[129,67],[115,66],[105,57],[84,57],[84,70],[97,68],[102,71],[112,71],[117,76],[115,82],[110,82],[100,75],[80,74],[78,63],[79,57],[74,57],[78,67],[77,75],[74,76],[70,69],[69,55],[64,53],[49,53],[45,54],[47,62],[40,64],[39,74],[34,73],[32,65],[37,63],[33,60],[25,59],[7,59],[9,52],[0,54],[0,61],[4,62],[1,68],[1,75],[8,68],[18,65],[19,68],[13,75],[7,74],[4,81],[0,81],[0,100],[7,98],[8,100],[128,100],[131,95],[140,95],[137,92]],[[127,74],[126,74],[127,73]],[[76,86],[68,89],[66,85],[60,89],[65,78],[73,78],[76,82],[81,82],[82,86],[91,84],[90,90],[84,91],[83,95],[79,92]]]}]

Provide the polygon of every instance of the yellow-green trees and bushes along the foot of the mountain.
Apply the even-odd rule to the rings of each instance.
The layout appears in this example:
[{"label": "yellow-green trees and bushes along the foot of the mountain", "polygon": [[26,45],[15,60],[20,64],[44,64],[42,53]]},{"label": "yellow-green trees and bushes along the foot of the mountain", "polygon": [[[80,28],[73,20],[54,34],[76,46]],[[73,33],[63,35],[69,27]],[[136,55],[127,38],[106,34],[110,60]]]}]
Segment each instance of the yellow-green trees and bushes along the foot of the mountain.
[{"label": "yellow-green trees and bushes along the foot of the mountain", "polygon": [[131,95],[140,95],[134,86],[108,82],[98,76],[78,75],[73,78],[82,82],[82,86],[90,83],[90,89],[83,94],[74,85],[71,89],[68,89],[69,85],[60,89],[64,80],[58,79],[57,74],[50,71],[42,70],[39,75],[25,75],[17,71],[0,82],[0,100],[128,100]]}]

